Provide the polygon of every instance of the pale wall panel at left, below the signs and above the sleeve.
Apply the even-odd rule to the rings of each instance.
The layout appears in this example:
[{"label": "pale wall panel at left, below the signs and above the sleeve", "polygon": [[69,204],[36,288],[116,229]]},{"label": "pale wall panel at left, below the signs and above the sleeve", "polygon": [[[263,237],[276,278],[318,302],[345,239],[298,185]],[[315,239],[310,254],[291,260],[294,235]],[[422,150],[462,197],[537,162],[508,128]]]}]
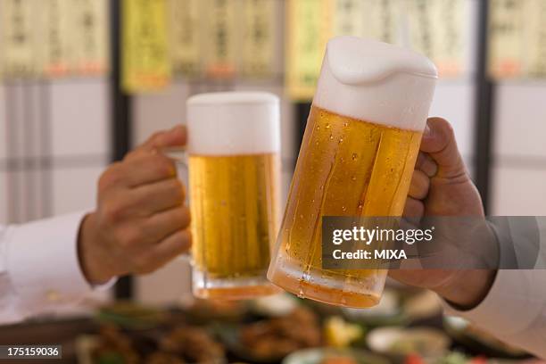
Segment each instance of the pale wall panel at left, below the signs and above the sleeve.
[{"label": "pale wall panel at left, below the signs and above the sleeve", "polygon": [[0,224],[94,209],[110,144],[106,79],[0,86]]}]

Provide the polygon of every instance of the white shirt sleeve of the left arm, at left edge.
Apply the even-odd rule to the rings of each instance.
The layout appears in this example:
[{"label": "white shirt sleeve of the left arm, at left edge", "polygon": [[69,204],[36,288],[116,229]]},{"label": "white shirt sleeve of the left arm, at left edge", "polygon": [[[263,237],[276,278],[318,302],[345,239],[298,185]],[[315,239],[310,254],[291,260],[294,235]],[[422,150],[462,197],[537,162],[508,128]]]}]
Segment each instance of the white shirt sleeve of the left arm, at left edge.
[{"label": "white shirt sleeve of the left arm, at left edge", "polygon": [[58,310],[94,289],[79,267],[84,215],[0,227],[0,323]]}]

